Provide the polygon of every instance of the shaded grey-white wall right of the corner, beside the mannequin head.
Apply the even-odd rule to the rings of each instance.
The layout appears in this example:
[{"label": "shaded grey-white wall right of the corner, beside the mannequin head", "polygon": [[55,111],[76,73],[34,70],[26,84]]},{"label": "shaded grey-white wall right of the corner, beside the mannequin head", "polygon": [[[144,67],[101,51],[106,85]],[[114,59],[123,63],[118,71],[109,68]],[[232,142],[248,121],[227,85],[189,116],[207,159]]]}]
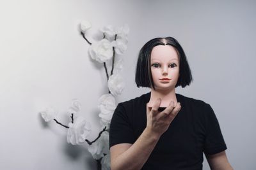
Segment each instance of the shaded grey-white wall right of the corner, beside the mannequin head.
[{"label": "shaded grey-white wall right of the corner, beside the mannequin head", "polygon": [[183,46],[194,81],[177,92],[211,104],[234,169],[256,167],[255,7],[256,1],[150,1],[143,9],[145,41],[173,36]]}]

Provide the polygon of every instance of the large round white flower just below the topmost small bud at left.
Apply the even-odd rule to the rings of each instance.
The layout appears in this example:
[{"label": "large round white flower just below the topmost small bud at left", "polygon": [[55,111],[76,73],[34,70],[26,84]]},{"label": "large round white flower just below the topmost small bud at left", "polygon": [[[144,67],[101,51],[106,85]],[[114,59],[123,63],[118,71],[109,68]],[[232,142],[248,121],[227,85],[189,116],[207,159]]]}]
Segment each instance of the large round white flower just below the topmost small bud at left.
[{"label": "large round white flower just below the topmost small bud at left", "polygon": [[108,39],[101,39],[90,46],[89,53],[93,60],[106,62],[113,57],[113,45]]}]

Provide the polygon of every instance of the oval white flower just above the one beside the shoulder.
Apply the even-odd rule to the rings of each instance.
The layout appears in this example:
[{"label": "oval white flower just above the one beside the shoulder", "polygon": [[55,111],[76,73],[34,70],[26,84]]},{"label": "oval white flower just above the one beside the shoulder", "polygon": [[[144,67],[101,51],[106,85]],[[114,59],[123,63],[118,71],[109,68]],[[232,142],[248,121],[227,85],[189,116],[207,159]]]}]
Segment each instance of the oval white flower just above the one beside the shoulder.
[{"label": "oval white flower just above the one beside the shoulder", "polygon": [[122,76],[120,76],[120,74],[113,74],[109,76],[108,88],[111,94],[113,94],[114,96],[121,94],[124,90],[124,87],[124,79],[122,78]]}]

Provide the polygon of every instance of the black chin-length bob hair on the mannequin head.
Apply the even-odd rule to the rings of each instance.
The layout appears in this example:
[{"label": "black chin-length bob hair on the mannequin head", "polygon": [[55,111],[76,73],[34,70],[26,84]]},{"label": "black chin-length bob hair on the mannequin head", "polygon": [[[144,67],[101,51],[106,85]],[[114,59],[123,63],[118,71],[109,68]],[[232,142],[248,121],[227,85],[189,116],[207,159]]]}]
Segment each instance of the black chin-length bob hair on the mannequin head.
[{"label": "black chin-length bob hair on the mannequin head", "polygon": [[175,38],[166,37],[151,39],[141,48],[135,74],[137,87],[153,87],[155,89],[150,67],[150,55],[154,46],[157,45],[171,45],[175,48],[179,56],[179,79],[175,87],[189,85],[193,78],[185,52]]}]

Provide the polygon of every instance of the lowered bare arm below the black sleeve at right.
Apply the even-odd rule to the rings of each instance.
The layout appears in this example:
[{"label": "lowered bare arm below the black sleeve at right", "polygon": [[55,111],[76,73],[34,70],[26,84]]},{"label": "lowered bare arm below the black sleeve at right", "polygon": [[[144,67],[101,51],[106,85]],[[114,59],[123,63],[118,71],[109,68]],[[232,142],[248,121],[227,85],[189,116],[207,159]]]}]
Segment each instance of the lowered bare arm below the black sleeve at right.
[{"label": "lowered bare arm below the black sleeve at right", "polygon": [[213,155],[205,155],[205,157],[212,170],[233,170],[225,151]]}]

